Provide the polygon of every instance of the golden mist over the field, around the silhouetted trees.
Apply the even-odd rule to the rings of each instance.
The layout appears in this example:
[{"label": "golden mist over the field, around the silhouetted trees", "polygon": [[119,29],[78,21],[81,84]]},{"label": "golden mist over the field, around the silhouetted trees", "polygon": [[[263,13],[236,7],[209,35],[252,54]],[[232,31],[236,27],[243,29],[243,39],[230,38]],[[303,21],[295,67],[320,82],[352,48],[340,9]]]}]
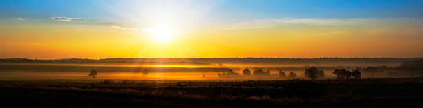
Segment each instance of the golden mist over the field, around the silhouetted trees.
[{"label": "golden mist over the field, around the silhouetted trees", "polygon": [[[411,77],[411,69],[395,69],[420,58],[127,58],[127,59],[2,59],[0,80],[287,80],[307,79],[304,70],[318,67],[336,78],[334,69],[360,69],[361,78]],[[376,69],[370,69],[374,67]],[[367,68],[367,69],[366,69]],[[97,78],[88,73],[95,69]],[[247,69],[250,74],[243,71]],[[268,71],[257,75],[255,70]],[[422,76],[415,70],[413,76]],[[279,72],[296,74],[281,76]],[[388,72],[390,72],[388,75]],[[225,75],[222,75],[225,74]]]}]

